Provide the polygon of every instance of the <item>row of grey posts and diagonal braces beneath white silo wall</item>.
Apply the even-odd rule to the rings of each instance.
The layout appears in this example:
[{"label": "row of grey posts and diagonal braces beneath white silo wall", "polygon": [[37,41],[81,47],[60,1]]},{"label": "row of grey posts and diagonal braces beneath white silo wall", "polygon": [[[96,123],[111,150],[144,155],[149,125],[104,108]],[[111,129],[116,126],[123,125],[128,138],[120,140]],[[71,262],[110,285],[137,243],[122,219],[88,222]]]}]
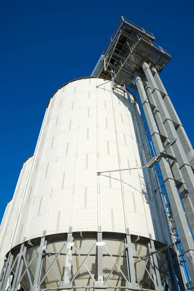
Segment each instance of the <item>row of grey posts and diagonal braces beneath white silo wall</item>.
[{"label": "row of grey posts and diagonal braces beneath white silo wall", "polygon": [[[121,254],[119,255],[119,257],[115,260],[113,258],[113,256],[111,255],[111,253],[109,252],[109,250],[107,249],[106,245],[104,244],[104,242],[102,242],[102,233],[99,232],[97,234],[97,243],[94,244],[94,246],[92,247],[92,249],[89,251],[89,253],[87,254],[87,257],[84,259],[84,261],[81,263],[81,266],[79,267],[79,270],[77,271],[77,273],[74,275],[74,277],[72,278],[71,282],[70,282],[70,270],[71,270],[71,256],[72,256],[72,234],[68,234],[67,236],[67,243],[66,243],[66,254],[65,254],[65,271],[64,271],[64,282],[65,284],[63,284],[62,281],[60,281],[60,286],[58,288],[55,288],[55,290],[70,290],[72,285],[71,283],[74,281],[74,279],[76,278],[77,274],[79,273],[81,266],[83,264],[85,264],[86,259],[89,257],[89,255],[91,254],[91,251],[94,249],[94,247],[97,247],[97,281],[95,281],[95,279],[93,278],[93,276],[91,275],[90,271],[88,270],[87,266],[87,270],[89,272],[89,274],[92,276],[93,280],[94,280],[94,286],[87,286],[85,287],[85,289],[87,288],[93,288],[95,290],[101,290],[101,289],[107,289],[107,288],[113,288],[113,289],[120,289],[120,288],[124,288],[124,289],[129,289],[129,290],[146,290],[146,289],[142,289],[142,288],[138,288],[138,285],[136,283],[135,280],[135,270],[133,267],[133,245],[131,243],[131,237],[130,235],[126,235],[126,245],[124,247],[124,249],[121,251]],[[49,254],[47,249],[46,249],[46,244],[47,242],[45,241],[45,238],[41,239],[40,242],[40,246],[38,247],[37,251],[34,252],[30,262],[27,265],[26,259],[25,259],[25,250],[26,247],[24,246],[24,244],[21,245],[20,248],[20,252],[17,255],[16,261],[13,263],[13,265],[16,265],[16,272],[15,272],[15,280],[13,281],[13,284],[11,286],[11,290],[16,291],[17,290],[17,286],[18,284],[21,282],[22,278],[24,277],[24,275],[26,274],[26,272],[29,272],[29,268],[31,266],[31,263],[33,261],[33,258],[36,256],[37,252],[38,252],[38,258],[37,258],[37,264],[36,264],[36,269],[35,269],[35,275],[34,275],[34,280],[33,280],[33,284],[31,284],[31,289],[30,291],[43,291],[46,289],[41,289],[41,284],[44,281],[44,278],[46,277],[46,275],[48,274],[49,270],[47,271],[47,273],[44,275],[44,277],[41,279],[40,281],[40,274],[41,274],[41,268],[42,268],[42,256],[43,254]],[[144,271],[148,273],[149,276],[151,276],[152,281],[155,284],[155,289],[159,290],[159,291],[163,291],[164,288],[162,287],[162,283],[161,283],[161,278],[160,278],[160,272],[159,272],[159,267],[158,267],[158,261],[157,261],[157,252],[155,250],[155,246],[154,246],[154,242],[151,241],[151,249],[149,247],[149,250],[151,251],[149,258],[152,260],[152,266],[153,266],[153,279],[152,279],[152,275],[151,273],[149,273],[148,269],[146,268],[146,264],[144,263],[144,261],[142,260],[142,258],[140,258],[140,256],[137,254],[137,257],[140,259],[140,261],[142,261],[143,266],[144,266]],[[51,265],[49,267],[49,269],[53,266],[54,262],[56,261],[56,259],[60,256],[60,254],[62,254],[62,250],[64,249],[65,245],[63,245],[62,249],[59,251],[59,253],[57,253],[57,257],[54,259],[54,261],[51,261]],[[73,246],[75,248],[75,246]],[[110,255],[110,257],[113,259],[113,268],[110,272],[110,274],[107,277],[110,277],[110,275],[113,273],[113,270],[115,268],[115,266],[117,266],[117,268],[119,269],[119,271],[121,272],[121,274],[123,275],[124,279],[127,282],[127,287],[122,287],[122,286],[115,286],[115,287],[110,287],[106,285],[106,282],[104,282],[104,278],[103,278],[103,252],[102,249],[103,247],[105,247],[105,249],[107,250],[108,254]],[[75,249],[76,250],[76,249]],[[124,251],[126,250],[126,257],[127,257],[127,264],[128,264],[128,278],[123,274],[122,270],[120,269],[119,265],[118,265],[118,261],[119,259],[122,257],[122,254],[124,253]],[[134,249],[135,251],[135,249]],[[76,252],[78,253],[78,251],[76,250]],[[63,253],[64,255],[64,253]],[[80,256],[80,254],[78,253],[78,255]],[[9,257],[11,257],[11,252],[9,254]],[[149,258],[146,258],[147,261]],[[9,259],[9,258],[8,258]],[[22,275],[21,275],[21,271],[22,271],[22,260],[24,260],[25,262],[25,270],[23,271]],[[8,264],[7,264],[8,265]],[[13,266],[12,265],[12,266]],[[10,270],[11,267],[10,265]],[[5,264],[6,267],[6,264]],[[142,273],[142,275],[143,275]],[[10,273],[11,274],[11,273]],[[5,274],[6,275],[6,274]],[[2,279],[3,275],[1,275],[1,279]],[[106,280],[106,281],[107,281]],[[141,281],[141,276],[139,279],[139,283]],[[70,284],[69,284],[70,283]],[[6,283],[5,283],[6,284]],[[73,286],[74,288],[75,286]],[[52,290],[52,288],[48,288],[48,290]],[[175,291],[177,291],[177,289],[175,289]],[[182,291],[182,290],[181,290]]]}]

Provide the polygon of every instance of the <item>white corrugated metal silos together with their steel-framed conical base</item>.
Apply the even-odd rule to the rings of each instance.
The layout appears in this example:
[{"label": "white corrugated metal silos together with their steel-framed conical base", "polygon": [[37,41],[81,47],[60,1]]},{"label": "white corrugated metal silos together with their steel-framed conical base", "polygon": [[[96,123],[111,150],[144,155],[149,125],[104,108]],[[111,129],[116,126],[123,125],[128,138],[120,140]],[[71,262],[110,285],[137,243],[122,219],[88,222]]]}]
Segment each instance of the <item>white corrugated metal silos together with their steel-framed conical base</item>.
[{"label": "white corrugated metal silos together with their steel-framed conical base", "polygon": [[[17,206],[2,253],[11,262],[1,290],[11,273],[12,291],[18,284],[25,291],[162,290],[165,253],[160,260],[149,254],[171,240],[154,171],[141,168],[146,144],[139,107],[125,87],[112,90],[111,81],[90,77],[55,92],[11,201]],[[119,171],[125,168],[131,170]]]}]

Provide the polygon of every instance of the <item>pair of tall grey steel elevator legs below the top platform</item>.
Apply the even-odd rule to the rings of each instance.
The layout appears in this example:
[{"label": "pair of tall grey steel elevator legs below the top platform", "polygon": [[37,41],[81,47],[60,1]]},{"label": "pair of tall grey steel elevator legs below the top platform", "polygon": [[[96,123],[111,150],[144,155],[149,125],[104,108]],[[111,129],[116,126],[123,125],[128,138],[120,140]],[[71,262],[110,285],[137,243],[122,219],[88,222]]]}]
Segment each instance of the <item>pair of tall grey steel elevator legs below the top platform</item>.
[{"label": "pair of tall grey steel elevator legs below the top platform", "polygon": [[[142,67],[147,81],[143,84],[141,79],[142,74],[136,73],[135,82],[156,153],[160,155],[165,146],[176,139],[176,143],[173,143],[166,152],[167,155],[169,154],[169,156],[171,155],[175,158],[174,161],[176,161],[176,165],[174,168],[170,165],[165,156],[160,157],[159,164],[171,203],[171,208],[174,213],[182,247],[184,249],[191,280],[194,282],[194,242],[179,199],[176,184],[176,178],[180,177],[182,174],[182,191],[185,193],[188,189],[190,193],[190,196],[186,199],[186,203],[188,206],[187,209],[189,208],[190,210],[188,212],[188,219],[192,222],[192,219],[194,218],[192,216],[192,209],[194,207],[194,204],[192,203],[194,200],[194,151],[179,121],[178,115],[171,101],[169,101],[169,96],[165,91],[157,70],[152,65],[148,65],[146,61],[143,61]],[[155,78],[151,68],[155,74]],[[165,98],[165,101],[163,98]],[[153,115],[154,108],[156,111],[155,118]],[[163,140],[165,141],[163,142]]]}]

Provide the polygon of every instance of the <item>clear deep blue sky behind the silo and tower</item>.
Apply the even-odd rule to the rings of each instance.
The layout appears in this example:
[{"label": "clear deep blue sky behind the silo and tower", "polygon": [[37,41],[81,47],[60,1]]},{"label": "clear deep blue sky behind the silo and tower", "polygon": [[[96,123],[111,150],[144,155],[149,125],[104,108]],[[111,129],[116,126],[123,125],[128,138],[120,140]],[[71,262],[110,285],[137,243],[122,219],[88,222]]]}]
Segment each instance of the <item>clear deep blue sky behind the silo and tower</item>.
[{"label": "clear deep blue sky behind the silo and tower", "polygon": [[189,0],[1,0],[0,220],[49,98],[65,82],[90,76],[121,15],[173,56],[161,77],[194,146],[193,9]]}]

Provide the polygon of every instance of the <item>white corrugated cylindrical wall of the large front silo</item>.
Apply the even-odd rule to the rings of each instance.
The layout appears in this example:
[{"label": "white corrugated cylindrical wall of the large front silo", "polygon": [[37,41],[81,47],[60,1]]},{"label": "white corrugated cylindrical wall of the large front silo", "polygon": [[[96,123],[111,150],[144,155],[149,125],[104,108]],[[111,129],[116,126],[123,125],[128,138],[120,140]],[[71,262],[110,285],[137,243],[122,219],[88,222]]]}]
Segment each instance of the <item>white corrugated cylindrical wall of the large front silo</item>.
[{"label": "white corrugated cylindrical wall of the large front silo", "polygon": [[146,134],[127,94],[90,78],[68,83],[51,98],[13,245],[69,231],[121,232],[166,242],[152,170],[97,176],[97,171],[144,165]]}]

